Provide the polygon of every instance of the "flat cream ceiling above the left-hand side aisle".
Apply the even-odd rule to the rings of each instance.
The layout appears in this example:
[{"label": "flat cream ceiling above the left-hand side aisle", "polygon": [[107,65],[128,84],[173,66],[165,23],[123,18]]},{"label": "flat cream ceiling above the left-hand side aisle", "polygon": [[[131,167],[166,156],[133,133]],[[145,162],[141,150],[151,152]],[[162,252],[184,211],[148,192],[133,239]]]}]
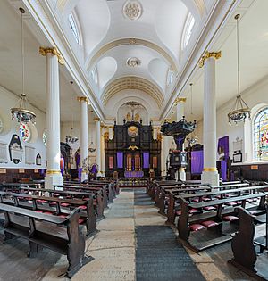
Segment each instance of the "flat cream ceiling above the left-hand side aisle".
[{"label": "flat cream ceiling above the left-hand side aisle", "polygon": [[[21,95],[21,13],[7,1],[0,1],[0,85],[15,95]],[[46,112],[46,58],[38,53],[40,44],[29,31],[32,19],[25,14],[25,94],[29,103]],[[69,72],[60,66],[61,120],[80,120],[79,90],[70,85]],[[72,113],[71,113],[72,112]],[[90,112],[90,109],[89,109]],[[91,115],[90,115],[91,114]],[[93,120],[90,112],[88,120]]]}]

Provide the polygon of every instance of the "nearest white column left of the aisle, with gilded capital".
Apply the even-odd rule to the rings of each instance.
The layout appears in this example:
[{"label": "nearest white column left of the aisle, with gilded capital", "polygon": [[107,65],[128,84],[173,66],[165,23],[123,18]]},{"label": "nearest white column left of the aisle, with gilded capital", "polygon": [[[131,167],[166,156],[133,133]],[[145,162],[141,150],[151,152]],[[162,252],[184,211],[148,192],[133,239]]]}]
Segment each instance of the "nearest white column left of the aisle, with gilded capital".
[{"label": "nearest white column left of the aisle, with gilded capital", "polygon": [[60,125],[60,87],[59,64],[64,63],[63,57],[55,47],[39,48],[39,53],[46,56],[46,177],[45,187],[63,185],[60,170],[61,160],[61,125]]}]

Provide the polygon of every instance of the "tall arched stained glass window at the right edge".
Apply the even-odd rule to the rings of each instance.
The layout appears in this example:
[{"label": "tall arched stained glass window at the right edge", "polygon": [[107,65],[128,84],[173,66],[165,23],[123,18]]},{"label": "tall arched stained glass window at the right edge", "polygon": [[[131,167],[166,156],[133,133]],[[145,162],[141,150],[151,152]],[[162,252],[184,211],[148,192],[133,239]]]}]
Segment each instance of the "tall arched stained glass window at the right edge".
[{"label": "tall arched stained glass window at the right edge", "polygon": [[265,107],[255,116],[253,139],[255,160],[268,160],[268,107]]}]

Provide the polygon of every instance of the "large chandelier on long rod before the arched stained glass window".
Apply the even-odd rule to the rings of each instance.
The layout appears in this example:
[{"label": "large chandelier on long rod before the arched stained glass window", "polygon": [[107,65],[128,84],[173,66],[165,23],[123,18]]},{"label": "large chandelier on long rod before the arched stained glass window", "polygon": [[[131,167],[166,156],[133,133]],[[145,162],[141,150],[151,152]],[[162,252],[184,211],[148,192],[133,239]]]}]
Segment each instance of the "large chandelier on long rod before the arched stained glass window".
[{"label": "large chandelier on long rod before the arched stained glass window", "polygon": [[238,95],[236,97],[236,101],[234,106],[231,108],[231,111],[228,113],[228,120],[231,124],[238,124],[241,121],[250,119],[250,109],[247,106],[247,103],[243,100],[240,95],[240,70],[239,70],[239,17],[240,14],[235,16],[235,20],[237,21],[237,56],[238,56]]}]

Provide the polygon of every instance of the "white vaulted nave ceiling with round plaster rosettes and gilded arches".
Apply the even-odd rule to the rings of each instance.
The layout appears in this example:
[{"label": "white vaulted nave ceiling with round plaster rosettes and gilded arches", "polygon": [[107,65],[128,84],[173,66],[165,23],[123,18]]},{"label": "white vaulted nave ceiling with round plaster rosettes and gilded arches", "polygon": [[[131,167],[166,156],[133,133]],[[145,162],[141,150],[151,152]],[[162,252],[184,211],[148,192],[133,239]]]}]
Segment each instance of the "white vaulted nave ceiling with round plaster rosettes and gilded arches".
[{"label": "white vaulted nave ceiling with round plaster rosettes and gilded arches", "polygon": [[[182,70],[181,42],[188,15],[193,15],[195,27],[201,29],[199,23],[205,22],[215,3],[216,0],[57,0],[56,9],[63,19],[72,13],[77,21],[84,68],[88,74],[96,70],[95,94],[103,108],[116,93],[129,88],[154,97],[162,109]],[[171,72],[173,79],[168,82]]]}]

